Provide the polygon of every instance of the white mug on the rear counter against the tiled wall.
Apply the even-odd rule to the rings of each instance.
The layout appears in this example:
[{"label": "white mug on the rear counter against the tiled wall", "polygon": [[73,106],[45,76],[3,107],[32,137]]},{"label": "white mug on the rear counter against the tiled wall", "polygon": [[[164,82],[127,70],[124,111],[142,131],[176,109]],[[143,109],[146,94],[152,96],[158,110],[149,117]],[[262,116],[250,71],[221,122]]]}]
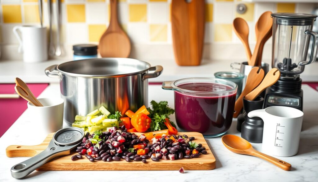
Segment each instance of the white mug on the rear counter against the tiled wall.
[{"label": "white mug on the rear counter against the tiled wall", "polygon": [[15,26],[13,33],[19,41],[18,52],[23,53],[24,62],[47,60],[46,27]]}]

